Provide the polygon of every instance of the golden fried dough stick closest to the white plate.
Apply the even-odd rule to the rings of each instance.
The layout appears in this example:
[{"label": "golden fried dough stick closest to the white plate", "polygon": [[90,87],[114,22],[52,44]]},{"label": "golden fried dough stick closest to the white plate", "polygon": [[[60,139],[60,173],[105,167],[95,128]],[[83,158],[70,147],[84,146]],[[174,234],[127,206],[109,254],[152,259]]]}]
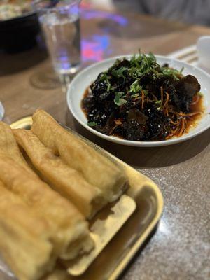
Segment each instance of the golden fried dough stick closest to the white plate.
[{"label": "golden fried dough stick closest to the white plate", "polygon": [[60,155],[69,167],[81,172],[89,183],[102,190],[107,202],[122,195],[127,187],[127,177],[123,170],[66,131],[48,113],[36,111],[31,130],[55,155]]}]

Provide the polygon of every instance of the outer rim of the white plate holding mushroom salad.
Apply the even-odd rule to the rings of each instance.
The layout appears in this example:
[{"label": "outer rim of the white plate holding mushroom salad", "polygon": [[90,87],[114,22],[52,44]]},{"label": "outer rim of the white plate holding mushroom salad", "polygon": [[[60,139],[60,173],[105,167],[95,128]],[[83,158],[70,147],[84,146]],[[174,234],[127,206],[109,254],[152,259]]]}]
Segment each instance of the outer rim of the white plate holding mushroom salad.
[{"label": "outer rim of the white plate holding mushroom salad", "polygon": [[[87,71],[89,71],[90,69],[94,69],[95,66],[99,66],[100,64],[104,64],[106,62],[111,62],[114,59],[122,59],[124,57],[130,58],[132,56],[133,55],[118,55],[118,56],[114,56],[114,57],[109,57],[107,59],[103,59],[100,62],[96,62],[94,64],[91,64],[90,66],[85,67],[73,78],[73,80],[69,84],[68,90],[66,92],[66,101],[67,101],[69,110],[71,111],[71,113],[73,115],[73,118],[75,118],[78,121],[78,123],[80,123],[80,125],[85,127],[85,129],[89,130],[93,134],[97,135],[98,137],[101,137],[108,141],[111,141],[111,142],[114,142],[117,144],[123,144],[125,146],[141,146],[141,147],[157,147],[157,146],[169,146],[172,144],[178,144],[178,143],[181,143],[188,139],[192,139],[193,137],[196,137],[197,135],[201,134],[202,132],[204,132],[210,128],[210,121],[209,121],[208,125],[206,125],[205,127],[202,127],[200,130],[197,130],[197,132],[193,132],[191,134],[184,134],[183,136],[181,136],[179,138],[176,137],[176,138],[162,140],[162,141],[130,141],[130,140],[126,140],[126,139],[120,139],[120,137],[114,137],[114,136],[109,136],[109,135],[103,134],[101,132],[98,132],[97,130],[94,130],[92,127],[88,126],[86,123],[83,123],[83,121],[80,120],[80,118],[78,118],[77,113],[73,110],[73,106],[71,106],[70,92],[71,92],[71,87],[73,86],[73,83],[76,83],[76,80],[78,80],[81,76],[83,76],[85,73],[87,73]],[[193,69],[200,71],[200,73],[202,73],[202,75],[209,78],[209,83],[210,83],[210,74],[207,73],[206,71],[200,69],[200,67],[188,64],[187,62],[182,62],[181,60],[174,59],[173,57],[167,57],[164,55],[155,55],[155,57],[157,57],[158,59],[168,59],[168,60],[171,60],[172,62],[178,62],[178,63],[183,64],[183,66],[186,65],[186,66],[193,67]],[[210,120],[210,118],[209,118],[209,120]]]}]

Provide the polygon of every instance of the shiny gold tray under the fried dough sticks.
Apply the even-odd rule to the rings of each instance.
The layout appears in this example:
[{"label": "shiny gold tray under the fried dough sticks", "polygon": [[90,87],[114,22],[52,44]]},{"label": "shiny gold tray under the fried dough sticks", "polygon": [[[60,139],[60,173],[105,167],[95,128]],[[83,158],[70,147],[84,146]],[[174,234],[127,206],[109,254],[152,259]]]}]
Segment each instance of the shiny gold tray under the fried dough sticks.
[{"label": "shiny gold tray under the fried dough sticks", "polygon": [[[25,117],[13,123],[11,127],[29,128],[31,123],[31,117]],[[82,275],[70,276],[63,267],[58,266],[52,274],[45,277],[45,280],[114,280],[120,276],[157,225],[163,210],[162,193],[151,179],[68,127],[65,128],[123,167],[130,181],[130,189],[125,196],[132,197],[137,208]],[[72,267],[66,267],[67,270],[68,268],[71,273]],[[73,274],[80,273],[74,270]]]}]

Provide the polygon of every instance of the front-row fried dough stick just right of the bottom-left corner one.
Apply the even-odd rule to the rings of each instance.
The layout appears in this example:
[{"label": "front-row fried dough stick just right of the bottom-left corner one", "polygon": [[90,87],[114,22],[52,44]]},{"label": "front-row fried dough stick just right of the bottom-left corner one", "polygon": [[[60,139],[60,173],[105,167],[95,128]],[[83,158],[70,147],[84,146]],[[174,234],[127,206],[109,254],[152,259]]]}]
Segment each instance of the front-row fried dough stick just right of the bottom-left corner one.
[{"label": "front-row fried dough stick just right of the bottom-left corner one", "polygon": [[90,251],[93,243],[87,222],[73,204],[5,155],[0,155],[0,180],[46,218],[57,256],[71,259],[78,253]]}]

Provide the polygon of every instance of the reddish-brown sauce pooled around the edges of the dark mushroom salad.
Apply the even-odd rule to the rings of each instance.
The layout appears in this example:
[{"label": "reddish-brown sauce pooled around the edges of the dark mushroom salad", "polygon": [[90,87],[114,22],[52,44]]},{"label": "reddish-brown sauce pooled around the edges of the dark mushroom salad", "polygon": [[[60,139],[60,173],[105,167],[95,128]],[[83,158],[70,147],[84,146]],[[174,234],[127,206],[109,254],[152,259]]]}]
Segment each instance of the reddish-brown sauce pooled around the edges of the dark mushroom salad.
[{"label": "reddish-brown sauce pooled around the edges of the dark mushroom salad", "polygon": [[[84,94],[83,94],[83,99],[85,99],[88,96],[91,96],[90,92],[89,92],[90,87],[87,87],[87,89],[85,90]],[[81,101],[81,109],[83,110],[83,113],[85,114],[86,118],[87,118],[87,108],[85,107],[85,105],[83,104],[83,99]],[[202,118],[202,115],[204,113],[204,98],[202,96],[202,94],[198,93],[195,95],[195,97],[193,98],[193,102],[190,105],[190,113],[195,113],[195,112],[201,112],[200,114],[194,115],[194,116],[190,116],[190,118],[186,118],[186,131],[183,132],[183,134],[186,134],[190,131],[190,129],[192,129],[193,127],[196,127],[197,124],[199,123],[199,120]],[[183,135],[181,134],[180,137]],[[122,136],[116,134],[116,133],[112,133],[112,136],[118,137],[120,139],[123,139]],[[167,139],[170,138],[174,138],[174,136],[169,137]]]}]

